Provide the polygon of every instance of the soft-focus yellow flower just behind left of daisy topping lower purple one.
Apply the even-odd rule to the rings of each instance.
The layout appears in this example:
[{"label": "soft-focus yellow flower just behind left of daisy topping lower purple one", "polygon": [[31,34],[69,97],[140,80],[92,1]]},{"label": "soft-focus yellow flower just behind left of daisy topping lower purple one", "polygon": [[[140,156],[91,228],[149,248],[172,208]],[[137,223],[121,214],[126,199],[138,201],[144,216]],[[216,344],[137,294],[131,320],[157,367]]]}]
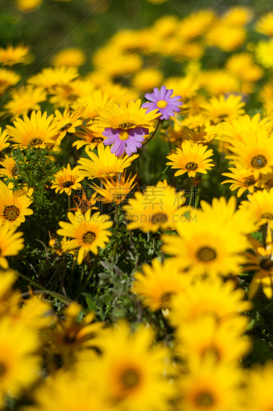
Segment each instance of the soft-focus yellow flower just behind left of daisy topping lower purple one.
[{"label": "soft-focus yellow flower just behind left of daisy topping lower purple one", "polygon": [[101,90],[94,90],[85,97],[79,98],[77,102],[73,104],[74,108],[78,108],[80,105],[85,106],[85,110],[82,114],[83,118],[89,118],[91,120],[97,117],[98,107],[104,107],[106,104],[111,104],[113,99],[111,99],[107,92],[102,92]]}]

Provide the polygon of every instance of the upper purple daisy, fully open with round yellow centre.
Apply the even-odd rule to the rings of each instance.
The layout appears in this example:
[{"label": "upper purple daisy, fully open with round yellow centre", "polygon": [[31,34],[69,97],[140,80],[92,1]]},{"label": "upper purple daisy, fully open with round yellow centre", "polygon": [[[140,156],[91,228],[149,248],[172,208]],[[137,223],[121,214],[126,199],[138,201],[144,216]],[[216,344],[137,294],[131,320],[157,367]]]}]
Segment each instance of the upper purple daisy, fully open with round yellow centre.
[{"label": "upper purple daisy, fully open with round yellow centre", "polygon": [[166,86],[162,86],[160,91],[155,87],[153,93],[145,94],[145,98],[151,101],[151,103],[148,102],[142,104],[143,108],[148,108],[146,114],[157,108],[158,113],[161,113],[161,116],[159,117],[160,120],[169,120],[170,117],[174,116],[174,111],[179,113],[180,108],[178,106],[183,104],[181,101],[178,101],[181,96],[171,98],[172,94],[173,89],[167,90]]}]

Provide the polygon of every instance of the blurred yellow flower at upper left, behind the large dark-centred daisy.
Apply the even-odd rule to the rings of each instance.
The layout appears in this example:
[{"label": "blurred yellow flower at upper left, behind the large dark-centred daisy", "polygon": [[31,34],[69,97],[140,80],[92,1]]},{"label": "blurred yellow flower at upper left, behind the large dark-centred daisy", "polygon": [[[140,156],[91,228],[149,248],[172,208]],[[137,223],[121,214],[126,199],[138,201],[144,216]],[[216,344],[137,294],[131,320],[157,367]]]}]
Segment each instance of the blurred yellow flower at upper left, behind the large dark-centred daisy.
[{"label": "blurred yellow flower at upper left, behind the large dark-centred daisy", "polygon": [[39,103],[46,100],[46,92],[40,88],[27,85],[11,92],[11,100],[4,105],[2,115],[16,117],[27,116],[29,110],[40,110]]}]

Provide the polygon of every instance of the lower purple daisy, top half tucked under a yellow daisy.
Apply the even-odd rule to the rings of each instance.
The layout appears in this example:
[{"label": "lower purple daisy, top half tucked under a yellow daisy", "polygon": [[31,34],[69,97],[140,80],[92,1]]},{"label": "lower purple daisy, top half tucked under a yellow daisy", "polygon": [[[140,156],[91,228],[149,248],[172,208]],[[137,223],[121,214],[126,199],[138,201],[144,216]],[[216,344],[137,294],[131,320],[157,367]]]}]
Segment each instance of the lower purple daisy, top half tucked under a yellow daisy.
[{"label": "lower purple daisy, top half tucked under a yellow daisy", "polygon": [[103,144],[113,144],[112,154],[119,157],[125,151],[128,156],[131,156],[132,153],[136,153],[138,148],[142,147],[142,142],[145,140],[143,136],[149,134],[149,129],[136,127],[123,130],[122,128],[106,127],[102,134],[107,137]]}]

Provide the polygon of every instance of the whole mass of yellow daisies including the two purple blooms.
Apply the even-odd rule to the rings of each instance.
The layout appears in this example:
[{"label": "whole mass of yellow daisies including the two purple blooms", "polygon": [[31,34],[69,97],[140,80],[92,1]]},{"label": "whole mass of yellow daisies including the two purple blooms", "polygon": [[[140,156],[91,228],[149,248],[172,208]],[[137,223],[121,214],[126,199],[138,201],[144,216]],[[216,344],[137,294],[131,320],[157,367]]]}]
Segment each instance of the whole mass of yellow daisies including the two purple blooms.
[{"label": "whole mass of yellow daisies including the two purple blooms", "polygon": [[[256,271],[248,298],[260,287],[273,297],[273,82],[256,86],[272,67],[273,43],[246,44],[247,51],[229,54],[225,68],[207,71],[200,62],[210,47],[233,52],[242,46],[252,17],[239,7],[222,16],[202,10],[121,31],[95,53],[95,71],[84,78],[78,66],[85,56],[76,49],[54,56],[52,67],[17,88],[11,89],[20,76],[1,68],[0,93],[11,96],[2,115],[13,125],[0,129],[0,406],[24,397],[26,411],[273,409],[273,363],[242,365],[251,350],[245,334],[252,302],[238,281],[240,273]],[[255,30],[273,36],[272,20],[272,13],[262,16]],[[189,64],[184,77],[165,79],[159,91],[162,72],[143,61],[166,54]],[[28,62],[28,47],[0,49],[2,65]],[[119,84],[120,76],[134,86]],[[140,93],[153,87],[145,95],[152,103],[141,106]],[[246,101],[256,91],[261,113],[246,115]],[[43,102],[53,114],[42,112]],[[157,130],[170,146],[166,165],[176,170],[174,183],[158,181],[127,199],[138,180],[126,169]],[[133,273],[131,293],[145,310],[161,310],[174,329],[169,344],[158,342],[156,329],[141,319],[106,326],[71,301],[61,316],[39,290],[24,299],[14,289],[17,274],[7,257],[24,248],[16,230],[33,214],[33,188],[14,191],[6,184],[20,178],[10,149],[47,148],[54,160],[68,146],[76,165],[63,167],[47,189],[67,196],[69,204],[72,197],[75,207],[68,207],[68,221],[59,222],[61,242],[52,237],[49,246],[59,256],[72,254],[84,268],[90,253],[107,246],[115,223],[124,223],[131,237],[136,229],[148,240],[160,235],[161,260],[137,268],[142,272]],[[201,200],[198,208],[198,173],[216,169],[217,151],[230,162],[228,173],[219,170],[228,177],[223,183],[231,183],[238,198],[248,192],[238,210],[234,195],[212,204]],[[176,176],[191,186],[188,198],[174,187]],[[90,198],[84,180],[92,182]],[[75,190],[81,194],[72,195]],[[114,203],[117,220],[101,214],[97,202]],[[250,236],[256,231],[263,244]]]}]

